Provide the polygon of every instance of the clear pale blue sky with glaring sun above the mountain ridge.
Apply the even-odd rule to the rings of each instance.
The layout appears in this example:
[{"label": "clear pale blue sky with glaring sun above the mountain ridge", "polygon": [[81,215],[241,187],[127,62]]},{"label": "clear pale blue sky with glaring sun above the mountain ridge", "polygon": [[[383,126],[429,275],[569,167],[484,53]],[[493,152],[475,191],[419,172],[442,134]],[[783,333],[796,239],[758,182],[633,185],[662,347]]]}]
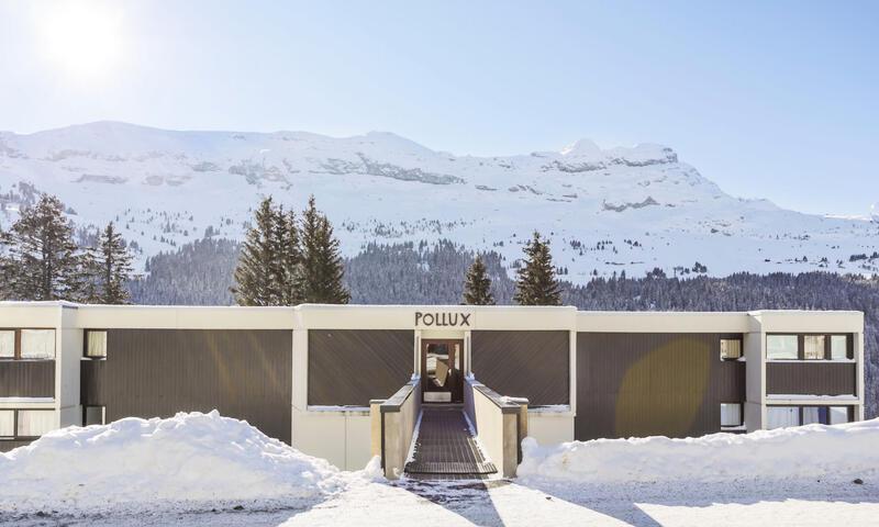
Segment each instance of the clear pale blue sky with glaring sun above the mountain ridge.
[{"label": "clear pale blue sky with glaring sun above the mountain ridge", "polygon": [[67,3],[0,0],[0,130],[649,142],[735,195],[879,201],[879,2]]}]

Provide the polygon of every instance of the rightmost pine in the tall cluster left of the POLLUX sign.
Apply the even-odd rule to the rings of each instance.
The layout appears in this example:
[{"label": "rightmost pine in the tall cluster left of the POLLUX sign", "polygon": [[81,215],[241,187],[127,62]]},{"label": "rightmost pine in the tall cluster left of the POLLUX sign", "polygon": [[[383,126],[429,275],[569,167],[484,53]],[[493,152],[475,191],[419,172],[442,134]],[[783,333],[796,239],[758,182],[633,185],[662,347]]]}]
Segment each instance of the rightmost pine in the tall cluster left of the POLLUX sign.
[{"label": "rightmost pine in the tall cluster left of the POLLUX sign", "polygon": [[351,293],[342,283],[345,268],[333,226],[314,205],[314,197],[302,214],[302,266],[299,277],[302,302],[347,304]]}]

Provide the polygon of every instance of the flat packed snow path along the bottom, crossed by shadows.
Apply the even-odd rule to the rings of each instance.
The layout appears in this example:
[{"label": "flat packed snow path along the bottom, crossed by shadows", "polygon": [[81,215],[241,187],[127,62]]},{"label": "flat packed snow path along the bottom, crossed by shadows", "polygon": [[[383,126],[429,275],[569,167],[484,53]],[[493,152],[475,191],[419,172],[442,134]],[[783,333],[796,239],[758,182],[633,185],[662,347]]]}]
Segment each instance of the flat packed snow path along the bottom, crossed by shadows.
[{"label": "flat packed snow path along the bottom, crossed by shadows", "polygon": [[522,481],[357,479],[344,492],[313,506],[235,511],[162,508],[137,514],[4,516],[23,527],[144,525],[225,527],[321,526],[875,526],[879,487],[872,481],[733,482],[730,484],[571,485]]}]

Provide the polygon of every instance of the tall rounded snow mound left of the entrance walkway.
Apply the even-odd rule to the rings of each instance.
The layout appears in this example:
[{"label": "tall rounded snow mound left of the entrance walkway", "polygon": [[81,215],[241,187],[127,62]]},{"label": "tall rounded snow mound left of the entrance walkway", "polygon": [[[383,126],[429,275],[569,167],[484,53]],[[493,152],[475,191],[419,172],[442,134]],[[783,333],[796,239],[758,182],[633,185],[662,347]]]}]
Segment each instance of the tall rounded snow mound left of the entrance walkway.
[{"label": "tall rounded snow mound left of the entrance walkway", "polygon": [[335,490],[329,462],[245,422],[180,413],[52,431],[0,455],[0,511],[174,502],[293,503]]}]

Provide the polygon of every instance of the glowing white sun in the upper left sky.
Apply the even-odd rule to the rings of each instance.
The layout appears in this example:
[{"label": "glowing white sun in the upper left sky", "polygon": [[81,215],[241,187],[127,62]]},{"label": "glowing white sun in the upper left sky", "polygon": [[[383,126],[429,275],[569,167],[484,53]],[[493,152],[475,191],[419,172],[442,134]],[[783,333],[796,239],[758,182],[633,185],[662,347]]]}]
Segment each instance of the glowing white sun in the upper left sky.
[{"label": "glowing white sun in the upper left sky", "polygon": [[111,75],[122,57],[121,15],[108,3],[53,3],[38,21],[47,57],[66,74],[93,79]]}]

